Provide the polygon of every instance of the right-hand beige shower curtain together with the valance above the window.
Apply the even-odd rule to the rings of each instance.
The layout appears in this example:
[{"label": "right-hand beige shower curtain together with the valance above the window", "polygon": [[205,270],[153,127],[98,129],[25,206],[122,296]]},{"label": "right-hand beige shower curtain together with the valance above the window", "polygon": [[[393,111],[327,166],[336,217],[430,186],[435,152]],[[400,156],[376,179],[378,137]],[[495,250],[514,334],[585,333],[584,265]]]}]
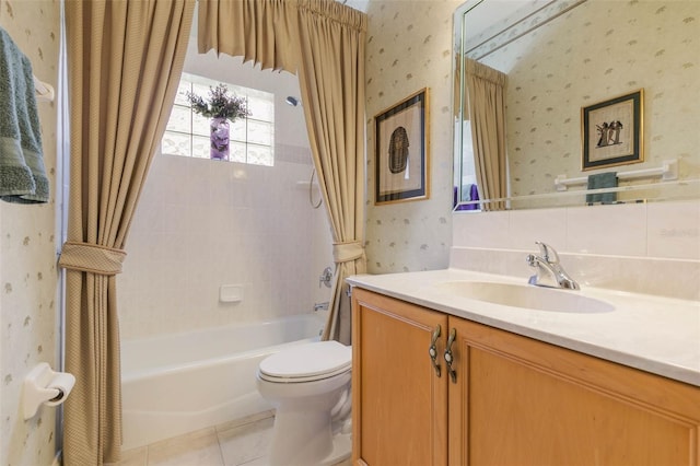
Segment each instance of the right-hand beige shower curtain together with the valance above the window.
[{"label": "right-hand beige shower curtain together with the valance above the window", "polygon": [[[244,18],[245,21],[240,20]],[[231,27],[231,23],[236,27]],[[364,255],[366,15],[332,0],[200,0],[199,51],[244,56],[299,75],[308,139],[334,236],[324,339],[350,343],[346,277]]]}]

